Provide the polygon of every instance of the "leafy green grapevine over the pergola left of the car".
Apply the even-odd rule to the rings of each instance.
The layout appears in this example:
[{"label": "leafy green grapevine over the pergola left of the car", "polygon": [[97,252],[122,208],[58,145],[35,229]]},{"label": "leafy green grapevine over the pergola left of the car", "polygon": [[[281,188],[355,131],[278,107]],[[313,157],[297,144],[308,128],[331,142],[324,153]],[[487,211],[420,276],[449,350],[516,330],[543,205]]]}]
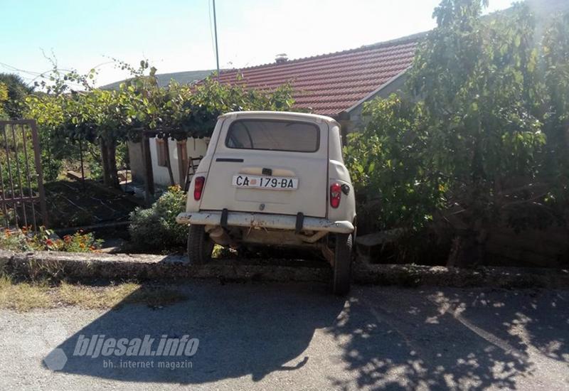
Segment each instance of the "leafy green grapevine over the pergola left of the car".
[{"label": "leafy green grapevine over the pergola left of the car", "polygon": [[[63,145],[81,140],[100,146],[103,181],[109,186],[119,185],[117,144],[127,139],[139,141],[144,130],[166,138],[201,138],[211,136],[223,112],[290,109],[294,103],[287,85],[254,91],[207,79],[196,86],[171,82],[164,88],[156,81],[156,68],[145,60],[139,68],[125,63],[119,66],[133,75],[119,90],[93,88],[95,70],[78,75],[54,68],[48,82],[41,83],[47,93],[26,99],[28,115],[38,121],[50,140],[60,140]],[[83,88],[74,89],[73,85]]]}]

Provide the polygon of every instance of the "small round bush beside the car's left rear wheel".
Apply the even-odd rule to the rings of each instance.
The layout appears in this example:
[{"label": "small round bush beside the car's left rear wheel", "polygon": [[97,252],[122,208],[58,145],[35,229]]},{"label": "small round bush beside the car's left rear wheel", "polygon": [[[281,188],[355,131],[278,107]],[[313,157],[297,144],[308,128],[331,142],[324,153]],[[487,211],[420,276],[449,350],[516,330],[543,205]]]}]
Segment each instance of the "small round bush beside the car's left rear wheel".
[{"label": "small round bush beside the car's left rear wheel", "polygon": [[168,250],[186,244],[188,227],[176,223],[184,212],[186,193],[172,186],[149,209],[137,208],[130,215],[132,244],[144,250]]}]

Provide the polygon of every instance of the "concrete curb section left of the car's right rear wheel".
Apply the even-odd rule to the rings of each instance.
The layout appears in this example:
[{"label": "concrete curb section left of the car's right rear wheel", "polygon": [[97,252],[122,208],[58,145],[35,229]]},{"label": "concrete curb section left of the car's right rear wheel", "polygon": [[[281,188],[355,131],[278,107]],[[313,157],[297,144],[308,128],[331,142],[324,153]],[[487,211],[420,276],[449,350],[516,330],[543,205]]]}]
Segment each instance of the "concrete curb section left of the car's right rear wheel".
[{"label": "concrete curb section left of the car's right rear wheel", "polygon": [[133,279],[133,280],[267,280],[326,281],[331,270],[312,262],[215,259],[203,266],[188,264],[176,255],[103,254],[70,252],[6,252],[0,250],[0,268],[23,278]]}]

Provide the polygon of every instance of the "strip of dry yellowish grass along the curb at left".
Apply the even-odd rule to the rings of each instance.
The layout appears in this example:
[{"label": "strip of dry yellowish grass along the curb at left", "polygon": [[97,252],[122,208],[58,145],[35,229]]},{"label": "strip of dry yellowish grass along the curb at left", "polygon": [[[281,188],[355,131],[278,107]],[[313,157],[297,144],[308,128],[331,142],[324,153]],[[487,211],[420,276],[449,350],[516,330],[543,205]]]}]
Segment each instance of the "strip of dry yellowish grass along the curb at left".
[{"label": "strip of dry yellowish grass along the curb at left", "polygon": [[16,311],[79,306],[83,309],[118,308],[124,304],[146,304],[159,308],[186,300],[180,291],[164,286],[123,283],[89,286],[62,282],[49,286],[43,282],[14,282],[0,277],[0,308]]}]

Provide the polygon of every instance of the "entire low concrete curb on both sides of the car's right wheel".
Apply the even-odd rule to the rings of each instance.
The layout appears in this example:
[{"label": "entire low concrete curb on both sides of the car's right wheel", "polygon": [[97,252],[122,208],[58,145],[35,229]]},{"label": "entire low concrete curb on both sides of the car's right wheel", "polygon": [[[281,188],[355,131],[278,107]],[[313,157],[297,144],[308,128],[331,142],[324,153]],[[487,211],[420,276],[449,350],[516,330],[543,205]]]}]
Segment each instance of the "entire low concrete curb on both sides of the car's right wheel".
[{"label": "entire low concrete curb on both sides of the car's right wheel", "polygon": [[[174,255],[127,255],[69,252],[8,252],[0,250],[0,268],[24,278],[185,280],[222,279],[329,282],[331,269],[324,262],[286,259],[216,259],[190,265]],[[418,265],[356,262],[358,284],[399,286],[491,286],[502,288],[569,288],[569,270],[484,267],[456,269]]]}]

